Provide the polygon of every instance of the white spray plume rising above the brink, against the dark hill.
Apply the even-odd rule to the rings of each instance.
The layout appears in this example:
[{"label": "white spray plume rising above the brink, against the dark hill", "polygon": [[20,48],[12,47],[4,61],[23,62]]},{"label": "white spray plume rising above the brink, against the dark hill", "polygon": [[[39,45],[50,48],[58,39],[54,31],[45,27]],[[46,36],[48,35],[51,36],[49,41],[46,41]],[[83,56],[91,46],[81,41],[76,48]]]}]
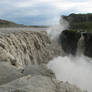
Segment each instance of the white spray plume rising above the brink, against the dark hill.
[{"label": "white spray plume rising above the brink, against the dark hill", "polygon": [[50,26],[46,31],[51,39],[51,41],[58,40],[60,33],[68,29],[69,23],[63,19],[63,17],[58,18],[58,22],[56,25]]}]

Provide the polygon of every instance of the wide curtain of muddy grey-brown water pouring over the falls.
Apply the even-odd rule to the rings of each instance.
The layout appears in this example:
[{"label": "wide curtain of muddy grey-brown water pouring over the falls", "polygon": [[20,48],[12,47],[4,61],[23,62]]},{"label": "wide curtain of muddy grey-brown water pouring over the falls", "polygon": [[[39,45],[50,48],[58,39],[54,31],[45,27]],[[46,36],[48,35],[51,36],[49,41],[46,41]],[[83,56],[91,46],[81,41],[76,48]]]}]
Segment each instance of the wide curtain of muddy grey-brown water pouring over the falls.
[{"label": "wide curtain of muddy grey-brown water pouring over the falls", "polygon": [[55,53],[46,32],[0,33],[0,61],[23,68],[48,63]]}]

